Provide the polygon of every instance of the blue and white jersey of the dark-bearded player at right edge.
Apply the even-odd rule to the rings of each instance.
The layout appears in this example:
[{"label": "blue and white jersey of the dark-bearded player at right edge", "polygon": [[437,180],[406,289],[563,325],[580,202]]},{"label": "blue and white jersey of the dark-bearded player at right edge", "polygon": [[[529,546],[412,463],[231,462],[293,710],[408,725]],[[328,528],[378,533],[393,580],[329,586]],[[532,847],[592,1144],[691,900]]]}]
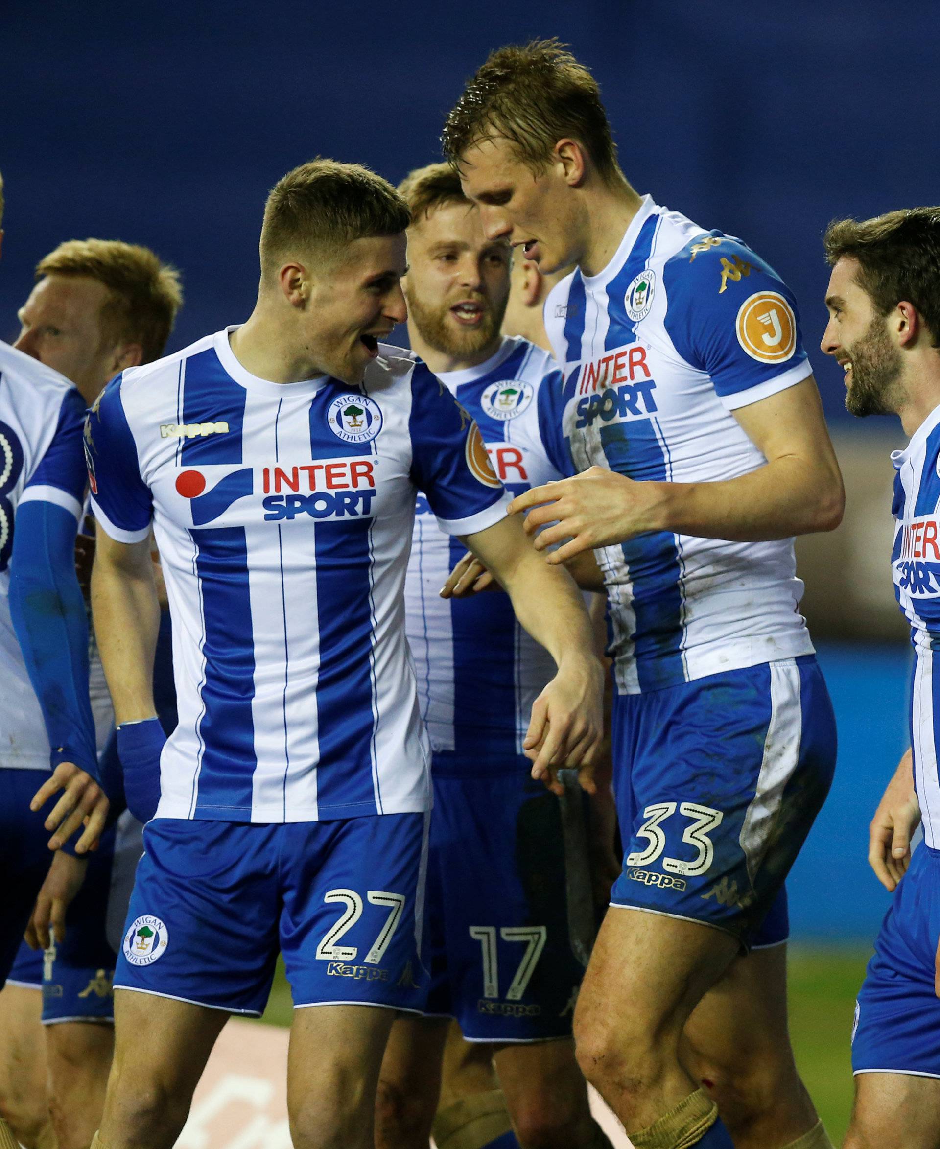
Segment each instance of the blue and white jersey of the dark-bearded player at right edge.
[{"label": "blue and white jersey of the dark-bearded player at right edge", "polygon": [[[914,782],[924,817],[924,841],[940,849],[940,407],[895,450],[892,573],[897,604],[910,624],[915,653],[911,687]],[[934,672],[937,671],[937,673]]]}]

